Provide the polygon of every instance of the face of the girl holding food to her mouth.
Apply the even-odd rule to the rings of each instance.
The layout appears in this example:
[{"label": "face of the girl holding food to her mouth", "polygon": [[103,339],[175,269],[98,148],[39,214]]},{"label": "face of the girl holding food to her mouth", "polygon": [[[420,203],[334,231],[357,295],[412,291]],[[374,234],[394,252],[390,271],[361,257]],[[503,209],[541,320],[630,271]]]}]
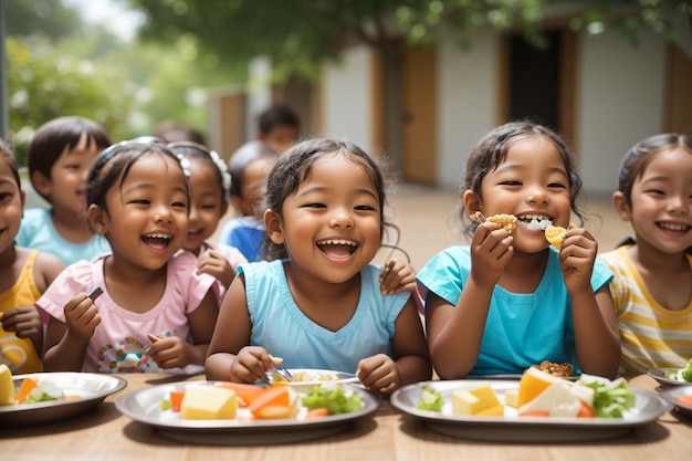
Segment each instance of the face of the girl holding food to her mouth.
[{"label": "face of the girl holding food to her mouth", "polygon": [[485,217],[516,216],[513,245],[518,251],[533,253],[548,244],[543,230],[527,228],[532,220],[569,224],[567,170],[555,145],[543,136],[517,139],[504,160],[483,177],[481,195],[482,199],[472,191],[464,193],[466,213],[471,218],[476,211]]}]

